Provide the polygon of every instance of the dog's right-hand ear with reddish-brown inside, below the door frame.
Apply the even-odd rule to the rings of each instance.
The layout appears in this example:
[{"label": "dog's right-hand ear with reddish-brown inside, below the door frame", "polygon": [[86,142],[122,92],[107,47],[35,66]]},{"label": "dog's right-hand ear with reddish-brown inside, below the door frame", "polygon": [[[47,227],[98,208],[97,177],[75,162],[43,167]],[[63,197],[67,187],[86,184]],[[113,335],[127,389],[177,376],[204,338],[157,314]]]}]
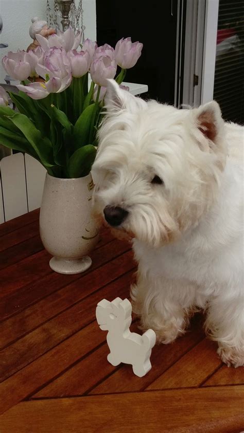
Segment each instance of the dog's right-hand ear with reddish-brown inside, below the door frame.
[{"label": "dog's right-hand ear with reddish-brown inside, below the door frame", "polygon": [[224,123],[219,104],[216,101],[208,102],[194,109],[193,113],[198,130],[205,138],[216,143],[218,136],[222,133]]}]

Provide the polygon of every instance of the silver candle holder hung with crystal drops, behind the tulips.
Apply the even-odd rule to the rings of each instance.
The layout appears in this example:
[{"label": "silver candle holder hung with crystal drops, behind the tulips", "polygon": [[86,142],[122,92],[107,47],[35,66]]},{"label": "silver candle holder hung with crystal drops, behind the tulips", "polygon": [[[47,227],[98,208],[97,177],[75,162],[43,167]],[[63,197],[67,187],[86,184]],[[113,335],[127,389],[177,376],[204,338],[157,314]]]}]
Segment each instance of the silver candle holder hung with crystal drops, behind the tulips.
[{"label": "silver candle holder hung with crystal drops, behind the tulips", "polygon": [[82,31],[84,41],[82,0],[47,0],[46,16],[49,27],[66,30],[71,26],[75,31]]}]

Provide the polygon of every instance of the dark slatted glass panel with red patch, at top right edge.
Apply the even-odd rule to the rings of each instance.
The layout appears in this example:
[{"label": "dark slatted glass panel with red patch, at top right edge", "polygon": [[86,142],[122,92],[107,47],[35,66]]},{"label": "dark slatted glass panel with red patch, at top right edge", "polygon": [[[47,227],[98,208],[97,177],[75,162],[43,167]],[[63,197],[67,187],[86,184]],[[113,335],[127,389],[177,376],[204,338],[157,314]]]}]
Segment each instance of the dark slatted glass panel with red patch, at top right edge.
[{"label": "dark slatted glass panel with red patch, at top right edge", "polygon": [[214,99],[224,120],[244,124],[244,0],[220,0]]}]

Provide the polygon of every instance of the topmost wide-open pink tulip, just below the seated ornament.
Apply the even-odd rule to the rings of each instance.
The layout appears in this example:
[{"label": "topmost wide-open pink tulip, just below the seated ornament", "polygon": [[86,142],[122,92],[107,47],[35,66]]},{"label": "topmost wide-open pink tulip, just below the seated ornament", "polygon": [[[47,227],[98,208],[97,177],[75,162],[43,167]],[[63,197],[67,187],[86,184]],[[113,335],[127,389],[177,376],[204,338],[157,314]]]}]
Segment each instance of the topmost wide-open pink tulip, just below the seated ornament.
[{"label": "topmost wide-open pink tulip, just below the seated ornament", "polygon": [[44,38],[41,34],[37,34],[36,38],[44,50],[49,48],[64,48],[65,51],[78,48],[81,41],[81,32],[75,35],[74,30],[69,27],[67,30],[58,31],[57,33],[51,34],[48,39]]}]

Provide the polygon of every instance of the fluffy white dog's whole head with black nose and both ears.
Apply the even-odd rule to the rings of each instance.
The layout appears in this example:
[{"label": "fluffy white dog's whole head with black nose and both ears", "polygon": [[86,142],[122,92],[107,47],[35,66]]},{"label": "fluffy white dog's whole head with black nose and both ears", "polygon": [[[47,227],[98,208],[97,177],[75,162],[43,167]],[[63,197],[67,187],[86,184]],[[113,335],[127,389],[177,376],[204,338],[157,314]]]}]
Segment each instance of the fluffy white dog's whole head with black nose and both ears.
[{"label": "fluffy white dog's whole head with black nose and both ears", "polygon": [[109,81],[93,165],[94,211],[118,234],[158,247],[195,226],[215,200],[224,122],[217,102],[177,110]]}]

